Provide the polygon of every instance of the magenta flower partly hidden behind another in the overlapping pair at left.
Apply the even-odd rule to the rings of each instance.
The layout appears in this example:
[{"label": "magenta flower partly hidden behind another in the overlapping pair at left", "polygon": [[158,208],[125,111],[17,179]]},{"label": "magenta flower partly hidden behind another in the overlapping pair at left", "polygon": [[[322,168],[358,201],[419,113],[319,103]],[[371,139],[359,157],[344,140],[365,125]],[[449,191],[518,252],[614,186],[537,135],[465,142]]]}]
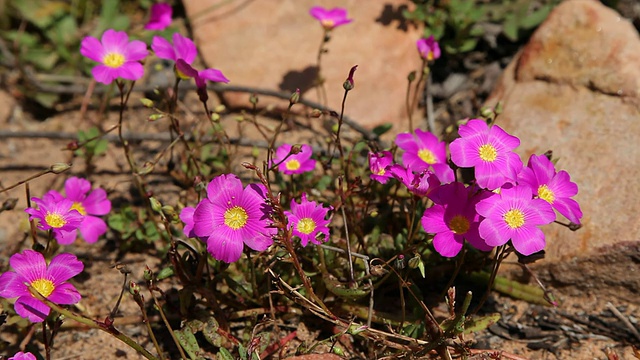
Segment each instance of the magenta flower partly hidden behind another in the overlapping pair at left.
[{"label": "magenta flower partly hidden behind another in the overlapping pair at left", "polygon": [[[80,227],[80,235],[89,244],[98,241],[98,238],[107,232],[107,224],[100,215],[106,215],[111,211],[111,201],[107,199],[107,192],[104,189],[94,189],[91,191],[89,180],[71,177],[64,183],[66,198],[73,201],[71,209],[77,210],[84,216]],[[91,191],[91,192],[89,192]],[[47,194],[53,196],[56,201],[61,201],[65,197],[55,190],[50,190]],[[96,216],[97,215],[97,216]],[[64,239],[58,239],[61,244],[71,244],[76,239],[76,230],[65,234]]]}]

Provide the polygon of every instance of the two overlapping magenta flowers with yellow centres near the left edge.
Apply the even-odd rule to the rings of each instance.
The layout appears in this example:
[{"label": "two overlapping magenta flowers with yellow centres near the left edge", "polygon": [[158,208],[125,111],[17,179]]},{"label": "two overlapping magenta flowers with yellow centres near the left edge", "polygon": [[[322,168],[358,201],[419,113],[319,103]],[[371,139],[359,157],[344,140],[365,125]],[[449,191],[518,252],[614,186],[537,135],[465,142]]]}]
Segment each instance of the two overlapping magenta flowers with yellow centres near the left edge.
[{"label": "two overlapping magenta flowers with yellow centres near the left edge", "polygon": [[107,231],[99,215],[111,211],[111,201],[104,189],[91,190],[86,179],[71,177],[64,184],[66,196],[50,190],[42,198],[32,198],[37,207],[25,210],[30,220],[38,220],[38,228],[51,230],[62,245],[73,243],[80,230],[82,238],[92,244]]}]

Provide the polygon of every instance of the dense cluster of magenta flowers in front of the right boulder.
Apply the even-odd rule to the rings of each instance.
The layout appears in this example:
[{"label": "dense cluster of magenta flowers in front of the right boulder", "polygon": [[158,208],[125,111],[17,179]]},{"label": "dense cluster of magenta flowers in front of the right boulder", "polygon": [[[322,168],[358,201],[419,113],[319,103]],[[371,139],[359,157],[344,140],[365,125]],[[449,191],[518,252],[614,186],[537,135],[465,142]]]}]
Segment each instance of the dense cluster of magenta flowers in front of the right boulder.
[{"label": "dense cluster of magenta flowers in front of the right boulder", "polygon": [[524,167],[513,152],[520,140],[484,120],[471,119],[458,133],[449,146],[451,162],[473,169],[470,186],[456,181],[446,144],[426,131],[397,135],[402,164],[395,164],[388,151],[369,154],[372,180],[384,184],[393,176],[413,194],[433,201],[422,227],[434,234],[433,246],[442,256],[456,256],[465,241],[481,251],[511,241],[516,251],[531,255],[544,249],[539,227],[556,219],[554,209],[580,223],[580,206],[571,199],[578,187],[549,158],[532,155]]}]

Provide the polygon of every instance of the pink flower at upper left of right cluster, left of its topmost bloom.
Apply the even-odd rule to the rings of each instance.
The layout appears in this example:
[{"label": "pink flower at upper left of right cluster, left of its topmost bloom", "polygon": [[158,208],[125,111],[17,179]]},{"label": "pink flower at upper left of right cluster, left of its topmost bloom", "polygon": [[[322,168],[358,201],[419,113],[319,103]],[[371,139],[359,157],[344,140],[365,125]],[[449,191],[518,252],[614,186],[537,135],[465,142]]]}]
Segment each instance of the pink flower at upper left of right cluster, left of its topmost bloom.
[{"label": "pink flower at upper left of right cluster, left of its topmost bloom", "polygon": [[447,145],[428,131],[416,129],[415,136],[401,133],[396,136],[396,144],[402,150],[402,163],[414,172],[433,169],[442,183],[455,180],[453,170],[447,164]]}]

